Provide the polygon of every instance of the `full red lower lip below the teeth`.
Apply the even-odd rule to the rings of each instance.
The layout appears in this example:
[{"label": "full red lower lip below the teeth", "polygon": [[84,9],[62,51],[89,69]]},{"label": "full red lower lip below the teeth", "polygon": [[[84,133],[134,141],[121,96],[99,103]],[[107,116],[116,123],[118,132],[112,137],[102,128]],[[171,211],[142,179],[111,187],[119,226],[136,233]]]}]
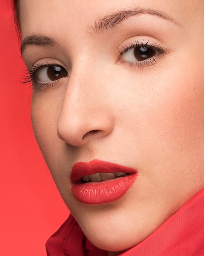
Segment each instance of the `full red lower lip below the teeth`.
[{"label": "full red lower lip below the teeth", "polygon": [[72,193],[84,204],[104,204],[121,198],[136,180],[138,173],[103,182],[72,184]]}]

